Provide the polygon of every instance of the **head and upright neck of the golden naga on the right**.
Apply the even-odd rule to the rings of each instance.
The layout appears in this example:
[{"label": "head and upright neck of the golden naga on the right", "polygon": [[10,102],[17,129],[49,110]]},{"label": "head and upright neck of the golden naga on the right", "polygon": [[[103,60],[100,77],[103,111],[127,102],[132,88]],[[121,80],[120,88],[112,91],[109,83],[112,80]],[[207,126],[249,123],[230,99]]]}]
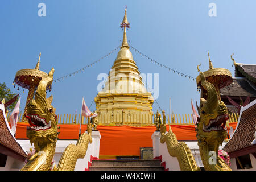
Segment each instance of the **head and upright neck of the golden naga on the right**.
[{"label": "head and upright neck of the golden naga on the right", "polygon": [[218,148],[227,137],[226,121],[229,119],[228,109],[205,75],[200,71],[201,85],[207,90],[207,100],[200,99],[199,121],[197,124],[197,141],[202,162],[208,171],[231,171],[230,167],[218,156]]}]

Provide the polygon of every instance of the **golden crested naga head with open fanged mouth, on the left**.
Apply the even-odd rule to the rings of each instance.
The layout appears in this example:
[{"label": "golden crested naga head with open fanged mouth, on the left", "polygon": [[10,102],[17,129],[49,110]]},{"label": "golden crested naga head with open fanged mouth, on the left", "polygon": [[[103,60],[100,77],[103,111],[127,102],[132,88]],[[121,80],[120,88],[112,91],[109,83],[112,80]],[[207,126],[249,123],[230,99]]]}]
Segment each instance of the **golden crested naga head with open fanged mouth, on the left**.
[{"label": "golden crested naga head with open fanged mouth, on the left", "polygon": [[30,143],[34,143],[35,149],[43,147],[46,143],[56,142],[57,122],[55,108],[51,105],[52,96],[46,98],[46,88],[52,82],[54,69],[52,68],[48,77],[42,78],[36,90],[35,98],[27,105],[27,115],[29,126],[27,127],[27,137]]}]

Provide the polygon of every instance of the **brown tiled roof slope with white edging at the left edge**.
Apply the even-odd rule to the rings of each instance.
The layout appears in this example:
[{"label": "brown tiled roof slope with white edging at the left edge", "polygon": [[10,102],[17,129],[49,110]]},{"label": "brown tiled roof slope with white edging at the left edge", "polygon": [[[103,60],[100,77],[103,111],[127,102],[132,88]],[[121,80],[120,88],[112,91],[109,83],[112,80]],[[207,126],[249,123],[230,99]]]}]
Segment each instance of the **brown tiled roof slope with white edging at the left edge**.
[{"label": "brown tiled roof slope with white edging at the left edge", "polygon": [[5,111],[3,110],[3,104],[0,104],[0,152],[12,158],[24,161],[27,154],[11,133],[9,123],[6,121],[4,115]]}]

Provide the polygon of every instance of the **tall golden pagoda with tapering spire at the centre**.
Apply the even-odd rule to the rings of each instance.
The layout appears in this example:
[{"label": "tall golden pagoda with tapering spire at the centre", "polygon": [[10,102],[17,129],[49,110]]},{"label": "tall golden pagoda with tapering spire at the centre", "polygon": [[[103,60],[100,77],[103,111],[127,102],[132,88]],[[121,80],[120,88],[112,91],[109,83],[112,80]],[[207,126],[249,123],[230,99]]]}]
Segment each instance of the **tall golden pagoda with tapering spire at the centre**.
[{"label": "tall golden pagoda with tapering spire at the centre", "polygon": [[94,98],[100,125],[152,125],[154,98],[147,92],[126,37],[130,28],[125,16],[121,23],[123,41],[104,88]]}]

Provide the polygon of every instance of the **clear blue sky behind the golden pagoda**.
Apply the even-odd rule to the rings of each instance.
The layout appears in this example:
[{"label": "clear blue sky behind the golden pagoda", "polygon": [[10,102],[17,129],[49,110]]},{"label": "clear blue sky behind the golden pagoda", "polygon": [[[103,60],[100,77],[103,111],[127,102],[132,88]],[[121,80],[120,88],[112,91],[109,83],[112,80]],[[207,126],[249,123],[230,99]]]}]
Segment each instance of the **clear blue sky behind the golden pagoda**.
[{"label": "clear blue sky behind the golden pagoda", "polygon": [[[38,16],[41,2],[45,17]],[[208,15],[209,3],[216,3],[216,17]],[[213,67],[229,69],[233,76],[233,52],[238,63],[256,63],[256,1],[5,0],[0,6],[0,82],[20,93],[22,110],[28,91],[13,88],[15,73],[34,68],[39,52],[40,70],[48,73],[54,67],[53,79],[100,59],[121,44],[125,5],[131,46],[172,69],[196,77],[197,64],[202,71],[209,69],[208,51]],[[160,107],[168,111],[171,97],[171,112],[191,113],[191,98],[200,100],[196,81],[131,52],[142,73],[159,73]],[[89,106],[97,94],[98,74],[108,74],[116,56],[117,51],[85,72],[53,82],[47,96],[53,95],[56,113],[80,113],[82,97]]]}]

